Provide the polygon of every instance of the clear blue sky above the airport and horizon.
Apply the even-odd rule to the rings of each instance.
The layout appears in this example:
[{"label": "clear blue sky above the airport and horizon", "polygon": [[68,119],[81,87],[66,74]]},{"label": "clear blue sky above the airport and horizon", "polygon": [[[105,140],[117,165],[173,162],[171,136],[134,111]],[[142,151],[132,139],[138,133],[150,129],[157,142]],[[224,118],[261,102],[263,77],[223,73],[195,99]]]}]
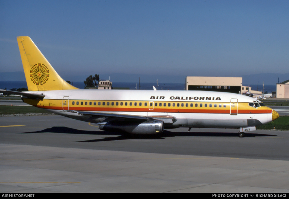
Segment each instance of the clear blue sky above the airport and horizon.
[{"label": "clear blue sky above the airport and horizon", "polygon": [[0,72],[23,71],[16,37],[29,36],[66,79],[288,73],[288,10],[264,0],[0,0]]}]

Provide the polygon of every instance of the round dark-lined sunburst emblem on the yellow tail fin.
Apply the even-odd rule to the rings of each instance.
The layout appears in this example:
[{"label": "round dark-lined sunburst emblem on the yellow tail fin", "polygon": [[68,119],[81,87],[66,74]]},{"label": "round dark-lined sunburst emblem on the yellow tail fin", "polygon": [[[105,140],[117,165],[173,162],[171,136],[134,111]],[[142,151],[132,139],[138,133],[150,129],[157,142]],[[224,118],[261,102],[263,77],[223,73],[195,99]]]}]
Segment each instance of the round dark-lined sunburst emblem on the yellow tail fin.
[{"label": "round dark-lined sunburst emblem on the yellow tail fin", "polygon": [[45,84],[49,77],[49,70],[44,64],[35,64],[30,70],[30,79],[36,85]]}]

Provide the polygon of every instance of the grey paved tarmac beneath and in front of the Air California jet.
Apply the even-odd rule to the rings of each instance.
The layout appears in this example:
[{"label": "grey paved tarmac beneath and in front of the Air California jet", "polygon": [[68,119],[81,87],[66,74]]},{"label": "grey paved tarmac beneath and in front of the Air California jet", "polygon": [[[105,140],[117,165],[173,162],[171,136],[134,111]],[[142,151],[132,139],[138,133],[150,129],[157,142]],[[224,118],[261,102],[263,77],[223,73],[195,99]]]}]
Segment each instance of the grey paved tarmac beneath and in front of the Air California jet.
[{"label": "grey paved tarmac beneath and in front of the Air California jet", "polygon": [[0,118],[1,192],[289,192],[288,131],[138,137],[62,116]]}]

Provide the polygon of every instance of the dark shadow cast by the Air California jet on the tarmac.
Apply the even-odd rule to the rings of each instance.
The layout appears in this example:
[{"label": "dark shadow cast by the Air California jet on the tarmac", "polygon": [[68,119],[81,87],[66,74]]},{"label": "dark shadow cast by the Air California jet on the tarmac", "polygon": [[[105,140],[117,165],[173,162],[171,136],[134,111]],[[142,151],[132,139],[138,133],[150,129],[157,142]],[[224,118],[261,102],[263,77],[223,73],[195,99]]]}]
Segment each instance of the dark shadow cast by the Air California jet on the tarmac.
[{"label": "dark shadow cast by the Air California jet on the tarmac", "polygon": [[[25,132],[25,133],[67,133],[67,134],[82,134],[82,135],[119,135],[118,137],[103,137],[96,140],[84,140],[77,142],[103,142],[114,140],[129,140],[129,139],[165,139],[166,137],[238,137],[238,133],[214,133],[214,132],[171,132],[164,130],[162,133],[153,135],[134,135],[126,132],[109,132],[109,131],[86,131],[79,129],[72,129],[68,127],[51,127],[41,131]],[[264,137],[277,136],[270,134],[246,133],[246,137]]]}]

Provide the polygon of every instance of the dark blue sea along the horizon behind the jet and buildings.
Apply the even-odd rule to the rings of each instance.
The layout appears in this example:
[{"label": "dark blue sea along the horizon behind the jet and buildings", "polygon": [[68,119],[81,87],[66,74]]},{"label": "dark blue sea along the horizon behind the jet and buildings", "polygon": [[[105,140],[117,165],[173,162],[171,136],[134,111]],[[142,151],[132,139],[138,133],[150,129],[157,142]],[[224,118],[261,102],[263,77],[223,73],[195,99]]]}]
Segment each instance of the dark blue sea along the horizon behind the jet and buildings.
[{"label": "dark blue sea along the horizon behind the jet and buildings", "polygon": [[[75,81],[72,82],[72,85],[84,89],[84,83]],[[112,82],[112,87],[120,87],[120,88],[129,88],[131,90],[153,90],[153,86],[158,88],[158,90],[184,90],[185,84],[184,83],[159,83],[158,86],[156,83],[125,83],[125,82]],[[263,85],[250,85],[252,90],[259,90],[263,89]],[[12,88],[27,88],[26,81],[0,81],[0,89],[7,89],[11,90]],[[276,84],[275,85],[264,85],[265,92],[271,93],[272,91],[276,91]]]}]

